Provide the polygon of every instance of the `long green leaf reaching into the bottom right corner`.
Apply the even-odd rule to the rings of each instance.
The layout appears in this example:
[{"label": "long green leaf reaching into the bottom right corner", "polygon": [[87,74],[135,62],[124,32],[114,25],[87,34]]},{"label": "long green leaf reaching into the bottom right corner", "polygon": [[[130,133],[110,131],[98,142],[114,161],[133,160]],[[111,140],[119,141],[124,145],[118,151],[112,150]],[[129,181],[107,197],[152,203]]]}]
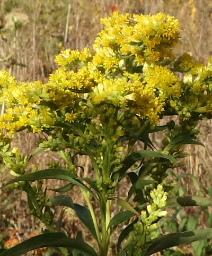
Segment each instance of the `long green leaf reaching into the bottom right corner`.
[{"label": "long green leaf reaching into the bottom right corner", "polygon": [[153,253],[160,252],[162,250],[165,250],[180,244],[189,244],[195,241],[208,239],[211,237],[212,237],[212,228],[194,229],[192,231],[163,235],[151,241],[151,245],[149,246],[144,256],[149,256]]}]

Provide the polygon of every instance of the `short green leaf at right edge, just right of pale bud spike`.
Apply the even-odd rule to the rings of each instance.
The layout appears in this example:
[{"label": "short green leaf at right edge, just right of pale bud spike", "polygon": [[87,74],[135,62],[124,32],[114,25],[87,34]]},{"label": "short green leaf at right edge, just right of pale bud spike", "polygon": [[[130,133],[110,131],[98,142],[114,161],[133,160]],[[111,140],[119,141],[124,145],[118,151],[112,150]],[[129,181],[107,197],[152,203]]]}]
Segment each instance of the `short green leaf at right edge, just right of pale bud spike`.
[{"label": "short green leaf at right edge, just right of pale bud spike", "polygon": [[167,199],[166,207],[179,206],[212,206],[212,199],[195,196],[174,197]]}]

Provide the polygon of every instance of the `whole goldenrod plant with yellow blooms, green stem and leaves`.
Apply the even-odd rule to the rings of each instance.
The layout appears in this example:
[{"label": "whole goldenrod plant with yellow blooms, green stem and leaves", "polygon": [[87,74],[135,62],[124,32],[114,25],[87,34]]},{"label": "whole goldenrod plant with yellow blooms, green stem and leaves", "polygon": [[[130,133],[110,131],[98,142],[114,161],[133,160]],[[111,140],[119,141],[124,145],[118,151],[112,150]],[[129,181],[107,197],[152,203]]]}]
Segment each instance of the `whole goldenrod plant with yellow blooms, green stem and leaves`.
[{"label": "whole goldenrod plant with yellow blooms, green stem and leaves", "polygon": [[[171,198],[174,184],[167,179],[167,170],[181,166],[187,156],[182,145],[202,145],[196,140],[196,126],[212,117],[212,58],[203,65],[192,61],[189,54],[173,54],[179,42],[179,23],[170,15],[113,12],[101,22],[104,29],[96,37],[93,51],[61,52],[55,58],[59,67],[47,83],[17,83],[0,71],[0,103],[6,106],[0,119],[0,156],[14,176],[3,187],[27,192],[30,214],[46,226],[43,234],[1,256],[46,246],[61,255],[106,256],[111,234],[123,222],[117,255],[147,256],[212,237],[211,228],[158,237],[154,232],[166,216],[166,207],[212,205],[211,200],[192,195]],[[169,121],[165,116],[170,116]],[[31,155],[21,155],[11,147],[13,135],[22,130],[45,135]],[[156,149],[149,135],[161,131],[162,147]],[[142,144],[142,150],[134,150],[136,142]],[[65,164],[56,161],[47,169],[29,168],[30,159],[42,151],[57,152]],[[77,155],[89,156],[89,177],[77,172]],[[131,187],[127,198],[122,198],[116,188],[125,177]],[[43,187],[43,179],[67,184],[51,187],[60,195],[48,197],[50,188]],[[79,187],[86,206],[66,195],[73,186]],[[119,212],[112,217],[117,204]],[[74,210],[97,246],[87,244],[81,233],[70,238],[56,232],[52,206]]]}]

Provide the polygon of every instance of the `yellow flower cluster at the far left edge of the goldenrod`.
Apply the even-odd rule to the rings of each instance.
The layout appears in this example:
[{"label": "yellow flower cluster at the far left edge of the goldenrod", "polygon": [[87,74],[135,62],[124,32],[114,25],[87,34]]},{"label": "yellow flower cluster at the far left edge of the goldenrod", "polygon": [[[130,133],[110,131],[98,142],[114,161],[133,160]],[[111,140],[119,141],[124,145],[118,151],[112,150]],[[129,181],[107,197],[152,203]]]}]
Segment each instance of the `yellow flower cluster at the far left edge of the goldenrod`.
[{"label": "yellow flower cluster at the far left edge of the goldenrod", "polygon": [[17,85],[6,72],[1,72],[0,79],[2,84],[6,79],[11,81],[1,91],[0,98],[0,103],[6,103],[6,112],[0,117],[1,130],[5,129],[10,136],[26,127],[32,132],[52,129],[57,117],[56,109],[73,106],[77,98],[76,93],[53,83],[36,81]]}]

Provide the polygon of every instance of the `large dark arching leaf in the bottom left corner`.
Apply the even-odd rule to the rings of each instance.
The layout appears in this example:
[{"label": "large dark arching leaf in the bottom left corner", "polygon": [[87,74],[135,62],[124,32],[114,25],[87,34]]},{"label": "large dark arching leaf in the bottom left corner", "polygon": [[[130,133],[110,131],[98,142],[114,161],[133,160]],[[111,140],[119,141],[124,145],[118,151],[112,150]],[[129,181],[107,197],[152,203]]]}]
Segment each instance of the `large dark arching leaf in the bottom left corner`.
[{"label": "large dark arching leaf in the bottom left corner", "polygon": [[77,249],[90,256],[98,256],[94,249],[81,240],[66,237],[64,233],[46,233],[31,237],[30,239],[17,244],[11,249],[2,253],[1,256],[19,256],[31,250],[43,247],[64,247],[67,249]]}]

